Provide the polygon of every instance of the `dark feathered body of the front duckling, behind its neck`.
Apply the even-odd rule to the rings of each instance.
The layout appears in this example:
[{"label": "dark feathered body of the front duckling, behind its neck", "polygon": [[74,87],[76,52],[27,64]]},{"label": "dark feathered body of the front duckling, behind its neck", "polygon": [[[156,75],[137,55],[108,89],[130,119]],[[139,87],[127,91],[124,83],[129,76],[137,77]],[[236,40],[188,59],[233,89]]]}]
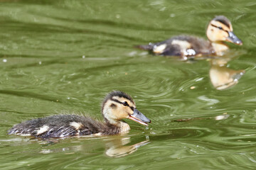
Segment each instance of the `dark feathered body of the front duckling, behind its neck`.
[{"label": "dark feathered body of the front duckling, behind its neck", "polygon": [[92,135],[105,128],[103,123],[80,115],[53,115],[15,125],[9,134],[39,138]]}]

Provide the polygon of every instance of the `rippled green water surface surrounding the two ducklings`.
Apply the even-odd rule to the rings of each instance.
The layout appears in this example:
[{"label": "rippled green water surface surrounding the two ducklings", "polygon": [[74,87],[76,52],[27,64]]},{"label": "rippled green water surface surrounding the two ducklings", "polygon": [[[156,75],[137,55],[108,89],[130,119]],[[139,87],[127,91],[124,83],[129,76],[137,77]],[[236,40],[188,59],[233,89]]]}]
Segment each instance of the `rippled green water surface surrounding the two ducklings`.
[{"label": "rippled green water surface surrounding the two ducklings", "polygon": [[[255,169],[255,10],[253,0],[1,1],[0,169]],[[246,73],[229,89],[213,87],[207,60],[133,47],[178,34],[206,38],[220,14],[244,43],[230,45],[227,67]],[[134,98],[149,129],[127,120],[123,136],[46,142],[6,134],[46,115],[101,119],[102,98],[114,89]],[[139,142],[124,157],[108,154]]]}]

